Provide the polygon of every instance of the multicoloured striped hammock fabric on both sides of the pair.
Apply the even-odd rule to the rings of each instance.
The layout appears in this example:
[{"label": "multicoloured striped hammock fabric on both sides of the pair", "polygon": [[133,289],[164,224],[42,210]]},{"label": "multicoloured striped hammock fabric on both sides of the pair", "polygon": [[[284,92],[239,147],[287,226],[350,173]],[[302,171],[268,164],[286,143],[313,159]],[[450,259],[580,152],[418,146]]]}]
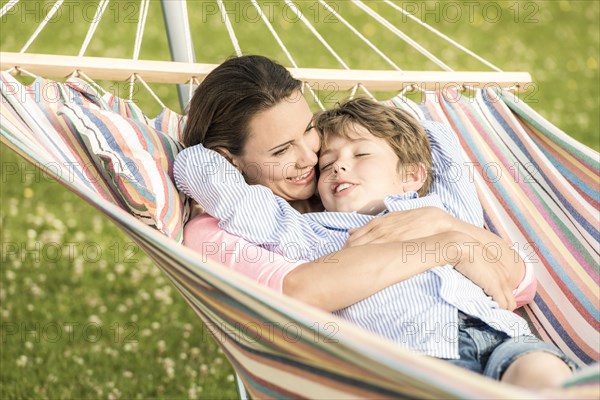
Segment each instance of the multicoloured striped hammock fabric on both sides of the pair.
[{"label": "multicoloured striped hammock fabric on both sides of the pair", "polygon": [[[15,88],[18,83],[6,74],[1,84],[3,144],[41,168],[87,165],[89,154],[69,137],[72,127],[55,105],[36,98],[31,88]],[[64,84],[55,86],[74,102],[85,100]],[[403,97],[390,104],[456,130],[473,162],[488,228],[538,260],[538,294],[522,312],[544,340],[591,365],[565,388],[533,393],[398,348],[227,268],[201,262],[197,253],[133,217],[109,185],[85,179],[85,171],[71,180],[52,168],[45,172],[104,213],[156,261],[221,344],[252,397],[598,398],[598,154],[504,92],[478,91],[472,98],[432,92],[423,104]]]}]

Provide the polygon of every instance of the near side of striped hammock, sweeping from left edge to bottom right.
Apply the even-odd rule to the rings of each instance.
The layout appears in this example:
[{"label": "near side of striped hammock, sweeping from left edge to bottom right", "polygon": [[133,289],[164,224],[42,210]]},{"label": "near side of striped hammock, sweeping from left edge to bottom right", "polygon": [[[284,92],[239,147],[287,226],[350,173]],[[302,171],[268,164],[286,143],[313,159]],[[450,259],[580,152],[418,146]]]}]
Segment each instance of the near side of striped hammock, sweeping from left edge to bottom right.
[{"label": "near side of striped hammock, sweeping from left edge to bottom right", "polygon": [[[30,115],[42,113],[44,104],[19,99],[4,82],[2,142],[36,165],[72,159],[77,151],[66,143],[64,148],[59,146],[64,142],[62,136],[47,119],[31,120]],[[43,126],[38,127],[38,122]],[[482,134],[487,136],[487,131]],[[542,395],[402,350],[234,271],[200,262],[197,253],[165,239],[163,234],[105,197],[103,188],[107,186],[66,179],[55,172],[48,170],[68,190],[121,227],[157,262],[221,343],[252,397],[597,398],[598,379],[592,378],[595,384],[591,385],[586,379],[585,387],[574,386]],[[501,204],[487,200],[488,213],[491,209],[487,203]],[[490,225],[495,223],[500,227],[499,232],[520,226],[510,218],[511,222],[500,224],[497,219],[504,216],[500,214],[490,219]],[[533,307],[532,312],[536,312]],[[593,342],[588,347],[597,350]]]}]

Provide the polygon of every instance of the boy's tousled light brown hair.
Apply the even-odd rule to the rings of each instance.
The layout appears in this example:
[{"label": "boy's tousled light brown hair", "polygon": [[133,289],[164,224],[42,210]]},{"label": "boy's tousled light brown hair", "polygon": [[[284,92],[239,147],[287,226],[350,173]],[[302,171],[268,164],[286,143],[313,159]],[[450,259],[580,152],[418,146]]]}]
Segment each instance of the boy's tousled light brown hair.
[{"label": "boy's tousled light brown hair", "polygon": [[356,133],[354,124],[364,127],[375,137],[385,139],[398,156],[400,173],[408,173],[410,168],[419,164],[425,167],[427,177],[417,193],[425,196],[429,192],[433,181],[431,146],[421,124],[407,111],[359,97],[318,113],[314,121],[323,146],[331,137],[351,138]]}]

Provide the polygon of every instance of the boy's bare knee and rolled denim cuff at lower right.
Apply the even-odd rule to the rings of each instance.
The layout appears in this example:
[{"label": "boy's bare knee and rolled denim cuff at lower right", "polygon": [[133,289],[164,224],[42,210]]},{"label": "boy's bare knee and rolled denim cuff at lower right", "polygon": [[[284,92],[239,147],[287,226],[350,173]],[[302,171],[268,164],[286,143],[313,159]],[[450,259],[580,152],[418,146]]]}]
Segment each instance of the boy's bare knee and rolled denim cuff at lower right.
[{"label": "boy's bare knee and rolled denim cuff at lower right", "polygon": [[542,389],[559,386],[577,365],[554,345],[534,336],[507,338],[491,354],[484,375],[502,382]]}]

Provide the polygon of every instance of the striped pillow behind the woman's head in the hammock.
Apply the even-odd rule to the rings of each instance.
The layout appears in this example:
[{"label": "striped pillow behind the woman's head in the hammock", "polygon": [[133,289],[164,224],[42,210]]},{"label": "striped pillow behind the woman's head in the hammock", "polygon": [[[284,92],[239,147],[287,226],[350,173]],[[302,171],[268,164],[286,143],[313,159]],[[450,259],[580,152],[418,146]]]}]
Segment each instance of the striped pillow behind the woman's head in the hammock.
[{"label": "striped pillow behind the woman's head in the hammock", "polygon": [[112,111],[67,104],[59,113],[73,124],[131,213],[181,243],[189,205],[175,187],[173,162],[183,146],[140,120]]}]

